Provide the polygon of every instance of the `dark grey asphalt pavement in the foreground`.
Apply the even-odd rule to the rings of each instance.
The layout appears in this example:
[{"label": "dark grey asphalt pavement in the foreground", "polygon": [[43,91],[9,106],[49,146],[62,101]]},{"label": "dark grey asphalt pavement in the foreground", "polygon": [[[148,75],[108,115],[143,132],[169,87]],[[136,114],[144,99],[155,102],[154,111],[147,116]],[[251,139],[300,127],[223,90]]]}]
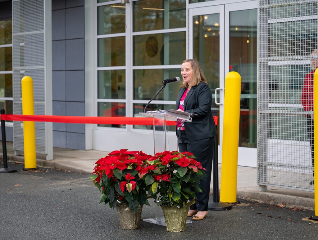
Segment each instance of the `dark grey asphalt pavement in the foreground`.
[{"label": "dark grey asphalt pavement in the foreground", "polygon": [[[2,164],[2,163],[0,163]],[[143,221],[163,216],[154,201],[144,206],[136,230],[121,230],[117,210],[99,204],[90,173],[38,167],[0,174],[0,239],[315,239],[313,210],[239,199],[230,210],[210,210],[183,232]],[[212,201],[212,196],[210,197]],[[188,218],[191,219],[190,217]]]}]

